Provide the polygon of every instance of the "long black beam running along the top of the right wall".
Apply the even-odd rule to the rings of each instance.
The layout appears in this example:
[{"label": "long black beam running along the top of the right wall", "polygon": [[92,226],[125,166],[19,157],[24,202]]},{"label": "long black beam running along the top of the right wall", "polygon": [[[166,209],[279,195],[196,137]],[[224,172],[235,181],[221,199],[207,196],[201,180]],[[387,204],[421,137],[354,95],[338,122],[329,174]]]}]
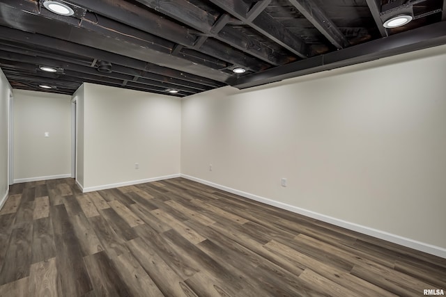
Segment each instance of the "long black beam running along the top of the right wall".
[{"label": "long black beam running along the top of the right wall", "polygon": [[250,88],[445,44],[446,22],[438,22],[390,35],[387,38],[372,40],[361,45],[275,67],[258,74],[238,77],[229,83],[240,89]]}]

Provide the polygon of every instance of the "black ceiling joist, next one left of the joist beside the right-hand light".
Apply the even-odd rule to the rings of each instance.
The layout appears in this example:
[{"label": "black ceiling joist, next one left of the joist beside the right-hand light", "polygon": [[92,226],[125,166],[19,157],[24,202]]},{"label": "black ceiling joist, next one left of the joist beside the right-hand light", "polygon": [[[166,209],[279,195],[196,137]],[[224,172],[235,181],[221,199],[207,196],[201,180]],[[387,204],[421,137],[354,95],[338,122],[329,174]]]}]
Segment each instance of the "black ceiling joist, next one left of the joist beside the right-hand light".
[{"label": "black ceiling joist, next one left of the joist beside the right-hand light", "polygon": [[311,0],[289,0],[313,26],[327,38],[337,49],[350,46],[347,38],[339,31],[337,26],[329,19],[323,10]]}]

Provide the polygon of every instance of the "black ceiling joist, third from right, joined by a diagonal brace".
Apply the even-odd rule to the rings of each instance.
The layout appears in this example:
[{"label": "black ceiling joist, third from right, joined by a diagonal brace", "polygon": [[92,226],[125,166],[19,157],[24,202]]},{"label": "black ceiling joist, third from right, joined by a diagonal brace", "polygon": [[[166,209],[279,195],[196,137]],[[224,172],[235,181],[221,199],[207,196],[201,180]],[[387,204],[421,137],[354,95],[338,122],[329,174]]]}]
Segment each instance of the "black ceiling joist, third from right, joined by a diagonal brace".
[{"label": "black ceiling joist, third from right, joined by a diagonal brace", "polygon": [[307,58],[309,56],[308,45],[301,38],[286,29],[284,25],[268,15],[268,13],[263,11],[256,19],[249,22],[246,17],[249,8],[245,2],[239,0],[210,0],[210,2],[222,8],[230,15],[237,17],[245,22],[245,24],[248,24],[279,45],[282,45],[282,47],[285,47],[300,58]]}]

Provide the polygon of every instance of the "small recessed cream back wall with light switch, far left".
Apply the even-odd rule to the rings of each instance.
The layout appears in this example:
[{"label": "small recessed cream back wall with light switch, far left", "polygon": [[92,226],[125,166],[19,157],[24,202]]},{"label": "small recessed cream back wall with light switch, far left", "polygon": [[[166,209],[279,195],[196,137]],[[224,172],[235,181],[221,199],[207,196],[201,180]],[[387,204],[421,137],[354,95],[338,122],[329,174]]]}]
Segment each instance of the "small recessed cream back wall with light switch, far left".
[{"label": "small recessed cream back wall with light switch, far left", "polygon": [[15,183],[70,177],[70,117],[68,95],[14,90]]}]

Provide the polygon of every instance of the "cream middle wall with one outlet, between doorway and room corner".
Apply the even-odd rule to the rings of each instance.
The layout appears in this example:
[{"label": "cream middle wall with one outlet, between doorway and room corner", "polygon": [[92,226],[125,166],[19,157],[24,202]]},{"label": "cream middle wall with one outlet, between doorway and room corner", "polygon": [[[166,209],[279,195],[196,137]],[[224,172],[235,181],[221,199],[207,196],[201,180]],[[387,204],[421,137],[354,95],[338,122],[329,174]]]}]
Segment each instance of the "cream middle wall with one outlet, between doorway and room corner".
[{"label": "cream middle wall with one outlet, between doorway and room corner", "polygon": [[85,83],[84,191],[179,175],[180,125],[178,98]]}]

